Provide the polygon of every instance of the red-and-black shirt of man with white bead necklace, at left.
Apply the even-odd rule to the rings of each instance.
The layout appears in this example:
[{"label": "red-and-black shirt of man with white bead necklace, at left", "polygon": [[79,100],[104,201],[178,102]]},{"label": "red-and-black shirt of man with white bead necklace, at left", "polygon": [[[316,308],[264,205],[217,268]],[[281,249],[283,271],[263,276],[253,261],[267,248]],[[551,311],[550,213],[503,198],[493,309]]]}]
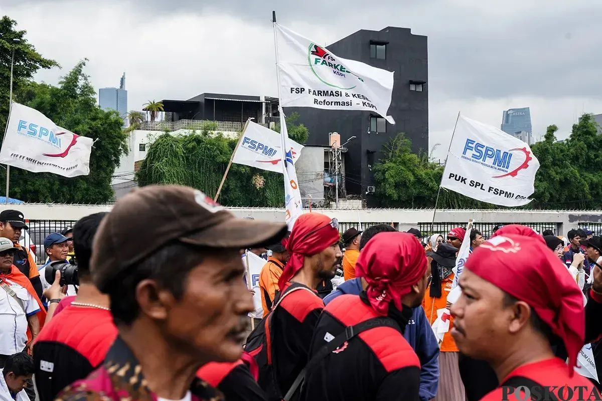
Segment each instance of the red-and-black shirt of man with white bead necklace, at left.
[{"label": "red-and-black shirt of man with white bead necklace, at left", "polygon": [[44,326],[34,344],[36,387],[42,401],[102,364],[117,337],[111,312],[69,305]]}]

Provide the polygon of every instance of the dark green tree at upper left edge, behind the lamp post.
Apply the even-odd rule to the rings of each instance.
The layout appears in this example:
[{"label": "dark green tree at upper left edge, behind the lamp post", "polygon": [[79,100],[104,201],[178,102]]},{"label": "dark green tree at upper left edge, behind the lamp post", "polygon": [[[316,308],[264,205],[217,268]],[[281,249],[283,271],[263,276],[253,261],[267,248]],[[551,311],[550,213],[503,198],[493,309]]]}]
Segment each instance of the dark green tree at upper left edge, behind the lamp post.
[{"label": "dark green tree at upper left edge, behind the lamp post", "polygon": [[10,64],[14,50],[13,93],[28,85],[39,69],[57,67],[54,60],[43,58],[25,38],[26,31],[17,31],[17,22],[8,16],[0,19],[0,138],[4,136],[10,93]]}]

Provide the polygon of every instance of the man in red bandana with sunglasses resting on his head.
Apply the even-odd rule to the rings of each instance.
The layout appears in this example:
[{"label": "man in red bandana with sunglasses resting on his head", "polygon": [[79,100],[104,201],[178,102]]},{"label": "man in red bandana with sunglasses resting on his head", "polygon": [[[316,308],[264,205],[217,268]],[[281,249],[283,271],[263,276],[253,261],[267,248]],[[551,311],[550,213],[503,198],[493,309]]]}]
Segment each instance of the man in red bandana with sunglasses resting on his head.
[{"label": "man in red bandana with sunglasses resting on his head", "polygon": [[[281,290],[275,301],[289,287],[303,289],[285,295],[272,315],[272,358],[283,395],[307,363],[315,323],[324,308],[315,289],[321,281],[334,278],[341,267],[343,254],[339,242],[337,220],[320,213],[301,215],[285,242],[290,257],[278,281]],[[260,373],[260,385],[265,379],[261,376]]]}]

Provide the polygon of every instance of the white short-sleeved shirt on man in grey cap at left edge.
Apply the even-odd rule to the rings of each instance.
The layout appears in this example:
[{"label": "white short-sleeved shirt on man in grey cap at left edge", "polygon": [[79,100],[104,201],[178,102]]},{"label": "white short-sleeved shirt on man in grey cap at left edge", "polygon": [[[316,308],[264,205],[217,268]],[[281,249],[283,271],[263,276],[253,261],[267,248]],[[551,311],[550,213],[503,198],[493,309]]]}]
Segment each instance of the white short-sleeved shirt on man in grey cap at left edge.
[{"label": "white short-sleeved shirt on man in grey cap at left edge", "polygon": [[40,305],[27,289],[7,278],[2,277],[2,280],[17,293],[17,297],[25,306],[23,311],[19,302],[0,288],[0,354],[13,355],[25,348],[27,316],[38,313]]}]

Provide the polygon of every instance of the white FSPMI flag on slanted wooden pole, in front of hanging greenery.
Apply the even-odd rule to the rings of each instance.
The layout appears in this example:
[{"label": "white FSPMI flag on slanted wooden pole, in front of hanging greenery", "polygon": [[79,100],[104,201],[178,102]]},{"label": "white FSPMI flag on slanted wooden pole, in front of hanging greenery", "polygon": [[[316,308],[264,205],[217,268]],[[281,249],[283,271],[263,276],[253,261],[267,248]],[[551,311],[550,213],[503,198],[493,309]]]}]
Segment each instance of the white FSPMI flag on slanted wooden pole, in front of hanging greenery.
[{"label": "white FSPMI flag on slanted wooden pole, in front of hanging greenery", "polygon": [[[282,174],[282,140],[278,132],[249,121],[241,135],[232,162]],[[303,145],[288,139],[287,152],[291,152],[293,163],[302,149]]]}]

